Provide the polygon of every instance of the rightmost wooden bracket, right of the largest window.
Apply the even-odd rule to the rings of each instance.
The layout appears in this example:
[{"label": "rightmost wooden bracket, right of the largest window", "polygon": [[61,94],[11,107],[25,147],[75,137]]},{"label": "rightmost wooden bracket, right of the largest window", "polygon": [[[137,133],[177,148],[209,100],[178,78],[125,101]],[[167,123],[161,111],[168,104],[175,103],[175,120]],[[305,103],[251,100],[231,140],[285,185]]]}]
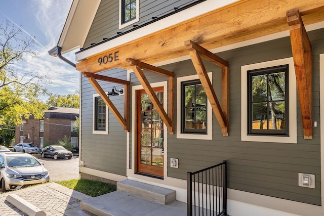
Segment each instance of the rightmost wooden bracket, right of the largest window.
[{"label": "rightmost wooden bracket, right of the largest window", "polygon": [[312,47],[298,8],[287,11],[304,139],[312,139]]}]

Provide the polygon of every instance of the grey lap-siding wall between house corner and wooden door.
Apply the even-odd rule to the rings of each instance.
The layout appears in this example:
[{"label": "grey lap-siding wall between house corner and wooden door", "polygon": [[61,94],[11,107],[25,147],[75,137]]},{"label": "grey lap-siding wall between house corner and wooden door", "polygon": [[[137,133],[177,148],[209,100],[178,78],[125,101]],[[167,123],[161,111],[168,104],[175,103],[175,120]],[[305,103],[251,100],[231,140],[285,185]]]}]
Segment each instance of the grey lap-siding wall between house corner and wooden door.
[{"label": "grey lap-siding wall between house corner and wooden door", "polygon": [[[127,79],[127,72],[122,69],[114,69],[100,74],[119,79]],[[103,90],[108,93],[112,87],[117,90],[124,88],[105,81],[98,81]],[[93,134],[93,95],[97,94],[88,78],[82,78],[82,123],[81,140],[82,154],[80,160],[84,161],[84,167],[93,168],[112,174],[126,176],[126,140],[124,127],[120,125],[108,109],[108,134]],[[110,96],[114,106],[124,116],[124,97]]]}]

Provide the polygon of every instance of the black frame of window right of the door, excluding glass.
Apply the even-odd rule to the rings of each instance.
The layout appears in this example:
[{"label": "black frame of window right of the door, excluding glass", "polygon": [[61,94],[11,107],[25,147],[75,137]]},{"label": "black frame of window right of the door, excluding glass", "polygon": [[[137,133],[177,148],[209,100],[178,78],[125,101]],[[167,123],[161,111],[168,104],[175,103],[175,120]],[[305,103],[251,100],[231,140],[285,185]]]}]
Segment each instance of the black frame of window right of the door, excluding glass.
[{"label": "black frame of window right of the door, excluding glass", "polygon": [[[185,121],[186,121],[186,116],[185,116],[185,108],[189,108],[189,107],[185,107],[185,87],[187,85],[195,85],[195,91],[196,91],[196,85],[197,84],[201,84],[200,80],[199,79],[194,79],[194,80],[187,80],[187,81],[182,81],[181,82],[181,134],[203,134],[203,135],[207,135],[207,128],[208,128],[208,124],[207,124],[207,119],[208,119],[208,112],[207,112],[207,109],[208,109],[208,106],[207,106],[207,103],[208,103],[208,98],[207,98],[207,95],[206,95],[206,121],[205,121],[205,124],[206,124],[206,127],[205,129],[198,129],[195,128],[194,129],[188,129],[188,128],[185,128]],[[206,94],[206,93],[205,93]],[[196,101],[194,99],[194,101]],[[196,104],[194,104],[194,106],[192,106],[192,108],[196,108]],[[202,106],[200,106],[202,107]],[[196,125],[196,122],[195,122],[195,125]]]}]

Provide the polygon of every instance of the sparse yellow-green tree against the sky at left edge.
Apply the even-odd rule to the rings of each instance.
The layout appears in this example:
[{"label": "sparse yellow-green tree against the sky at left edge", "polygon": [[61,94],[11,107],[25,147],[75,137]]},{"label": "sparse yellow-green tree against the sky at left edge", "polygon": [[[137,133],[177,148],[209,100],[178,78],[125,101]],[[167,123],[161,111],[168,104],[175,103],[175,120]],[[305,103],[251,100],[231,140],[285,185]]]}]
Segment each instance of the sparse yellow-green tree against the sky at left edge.
[{"label": "sparse yellow-green tree against the sky at left edge", "polygon": [[47,76],[17,67],[28,58],[36,58],[34,39],[21,37],[21,28],[15,29],[8,20],[0,23],[0,124],[18,125],[22,116],[42,118],[47,109],[39,99],[47,93],[43,87]]}]

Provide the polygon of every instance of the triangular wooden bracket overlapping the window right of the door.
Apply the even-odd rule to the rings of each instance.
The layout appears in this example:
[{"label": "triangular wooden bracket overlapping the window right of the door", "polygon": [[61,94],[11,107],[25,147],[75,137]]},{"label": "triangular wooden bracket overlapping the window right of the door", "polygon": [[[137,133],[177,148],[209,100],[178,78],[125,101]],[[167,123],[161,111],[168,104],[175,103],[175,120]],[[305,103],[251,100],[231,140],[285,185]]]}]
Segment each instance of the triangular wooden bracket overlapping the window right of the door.
[{"label": "triangular wooden bracket overlapping the window right of the door", "polygon": [[[228,136],[229,131],[229,64],[227,61],[199,46],[192,40],[185,41],[185,46],[190,51],[191,61],[196,69],[201,84],[219,125],[222,127],[223,136]],[[201,58],[222,68],[222,106],[219,104],[213,85],[208,77],[205,65]]]}]

